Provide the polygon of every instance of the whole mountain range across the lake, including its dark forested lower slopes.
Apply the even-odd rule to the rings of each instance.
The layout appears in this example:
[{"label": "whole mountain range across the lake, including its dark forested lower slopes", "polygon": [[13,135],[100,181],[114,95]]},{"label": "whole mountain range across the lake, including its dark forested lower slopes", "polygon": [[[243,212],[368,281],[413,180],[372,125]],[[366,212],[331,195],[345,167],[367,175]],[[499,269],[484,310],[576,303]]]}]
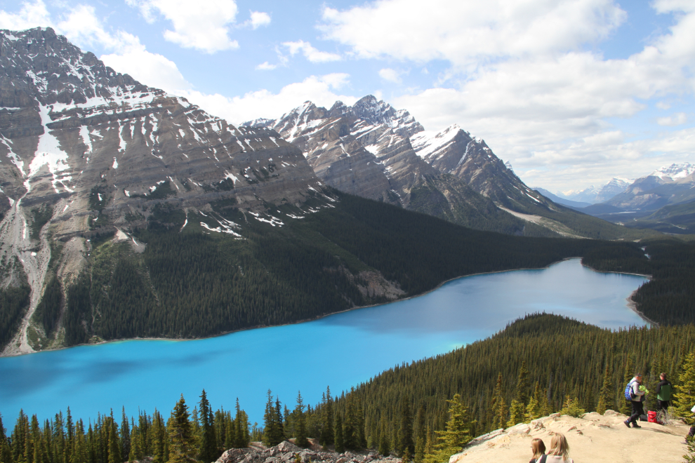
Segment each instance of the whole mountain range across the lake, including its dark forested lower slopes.
[{"label": "whole mountain range across the lake, including its dark forested lower slopes", "polygon": [[654,308],[692,290],[670,271],[691,246],[550,201],[458,126],[366,96],[235,127],[50,28],[0,31],[0,63],[3,355],[290,323],[574,256],[680,285],[638,307],[692,319]]}]

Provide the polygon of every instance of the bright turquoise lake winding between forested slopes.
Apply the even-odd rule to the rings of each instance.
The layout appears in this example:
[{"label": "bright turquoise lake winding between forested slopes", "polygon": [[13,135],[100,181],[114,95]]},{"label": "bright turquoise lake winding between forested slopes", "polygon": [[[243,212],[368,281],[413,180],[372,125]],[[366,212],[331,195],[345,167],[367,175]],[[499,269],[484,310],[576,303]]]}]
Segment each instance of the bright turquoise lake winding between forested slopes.
[{"label": "bright turquoise lake winding between forested slopes", "polygon": [[183,394],[213,409],[236,398],[263,422],[272,389],[293,408],[298,391],[315,405],[333,394],[419,358],[492,335],[524,314],[571,316],[604,328],[645,323],[626,298],[642,276],[602,274],[578,259],[547,269],[505,271],[449,281],[432,293],[295,325],[240,331],[205,340],[134,340],[0,358],[0,413],[11,429],[20,408],[44,420],[70,407],[85,420],[156,407],[165,419]]}]

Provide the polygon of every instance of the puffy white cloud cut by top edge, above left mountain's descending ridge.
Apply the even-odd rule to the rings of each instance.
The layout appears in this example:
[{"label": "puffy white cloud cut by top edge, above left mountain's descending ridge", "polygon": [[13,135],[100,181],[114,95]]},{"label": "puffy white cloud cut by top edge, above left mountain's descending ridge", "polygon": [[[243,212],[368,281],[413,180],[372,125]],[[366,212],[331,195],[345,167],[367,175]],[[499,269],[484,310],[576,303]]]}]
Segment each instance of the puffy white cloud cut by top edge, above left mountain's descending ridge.
[{"label": "puffy white cloud cut by top edge, above left mountain's descending ridge", "polygon": [[164,39],[183,48],[206,53],[239,48],[239,43],[229,36],[230,26],[237,18],[234,0],[126,0],[126,3],[140,8],[149,22],[154,22],[155,13],[171,21],[173,30],[164,31]]}]

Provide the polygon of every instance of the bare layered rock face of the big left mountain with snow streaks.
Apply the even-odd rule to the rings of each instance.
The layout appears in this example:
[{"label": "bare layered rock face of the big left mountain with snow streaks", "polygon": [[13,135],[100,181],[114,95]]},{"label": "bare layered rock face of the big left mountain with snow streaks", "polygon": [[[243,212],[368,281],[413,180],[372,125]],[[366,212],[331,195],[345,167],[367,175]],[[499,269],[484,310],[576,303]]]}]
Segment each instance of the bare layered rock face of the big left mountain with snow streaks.
[{"label": "bare layered rock face of the big left mountain with snow streaks", "polygon": [[[272,129],[236,128],[114,72],[53,29],[0,31],[0,250],[32,288],[8,349],[31,350],[27,326],[55,240],[65,243],[53,257],[68,281],[91,236],[129,240],[157,204],[197,211],[224,200],[280,222],[288,217],[267,204],[302,208],[322,189],[300,149]],[[3,271],[1,287],[24,278],[18,271]]]}]

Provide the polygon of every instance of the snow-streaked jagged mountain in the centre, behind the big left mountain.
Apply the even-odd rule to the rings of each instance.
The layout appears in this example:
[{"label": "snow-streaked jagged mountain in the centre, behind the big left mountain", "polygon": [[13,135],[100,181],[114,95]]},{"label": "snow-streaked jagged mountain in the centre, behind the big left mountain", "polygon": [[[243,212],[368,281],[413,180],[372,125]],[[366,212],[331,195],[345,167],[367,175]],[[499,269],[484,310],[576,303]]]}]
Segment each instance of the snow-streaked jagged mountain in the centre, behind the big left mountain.
[{"label": "snow-streaked jagged mountain in the centre, behind the big left mountain", "polygon": [[[275,121],[242,126],[276,130],[302,149],[322,181],[343,192],[469,227],[521,233],[524,222],[505,215],[497,201],[510,208],[515,206],[508,196],[529,203],[543,201],[483,140],[474,140],[458,126],[426,132],[409,112],[371,95],[352,106],[336,102],[330,109],[305,102]],[[499,194],[492,186],[491,175],[497,173],[503,173],[502,183],[508,179],[515,183],[510,187],[513,193]]]}]

